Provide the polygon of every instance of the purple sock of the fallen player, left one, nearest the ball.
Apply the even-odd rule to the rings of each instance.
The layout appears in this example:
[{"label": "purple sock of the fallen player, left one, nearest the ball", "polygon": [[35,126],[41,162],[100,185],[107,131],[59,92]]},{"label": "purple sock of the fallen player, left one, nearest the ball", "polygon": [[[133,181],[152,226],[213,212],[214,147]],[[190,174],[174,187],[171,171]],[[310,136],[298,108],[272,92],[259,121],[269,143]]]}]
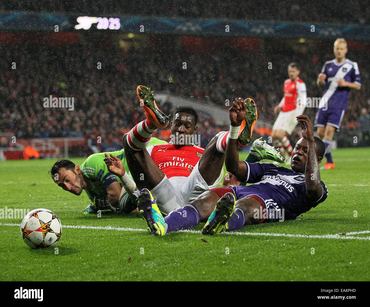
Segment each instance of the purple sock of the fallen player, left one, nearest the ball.
[{"label": "purple sock of the fallen player, left one, nearest the ball", "polygon": [[201,222],[199,210],[192,204],[169,212],[164,218],[166,233],[181,229],[191,229]]}]

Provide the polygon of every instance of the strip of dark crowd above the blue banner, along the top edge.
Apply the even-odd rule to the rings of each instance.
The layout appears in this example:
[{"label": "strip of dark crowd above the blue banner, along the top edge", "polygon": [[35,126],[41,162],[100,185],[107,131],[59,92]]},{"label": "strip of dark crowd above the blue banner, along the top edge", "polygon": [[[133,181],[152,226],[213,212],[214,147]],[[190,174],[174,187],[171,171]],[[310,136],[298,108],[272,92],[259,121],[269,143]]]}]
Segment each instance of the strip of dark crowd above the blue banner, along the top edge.
[{"label": "strip of dark crowd above the blue banner, along the top edge", "polygon": [[350,5],[339,0],[315,3],[298,0],[290,4],[283,0],[239,1],[238,4],[226,0],[9,0],[0,2],[0,10],[370,24],[370,6],[366,0],[353,0]]}]

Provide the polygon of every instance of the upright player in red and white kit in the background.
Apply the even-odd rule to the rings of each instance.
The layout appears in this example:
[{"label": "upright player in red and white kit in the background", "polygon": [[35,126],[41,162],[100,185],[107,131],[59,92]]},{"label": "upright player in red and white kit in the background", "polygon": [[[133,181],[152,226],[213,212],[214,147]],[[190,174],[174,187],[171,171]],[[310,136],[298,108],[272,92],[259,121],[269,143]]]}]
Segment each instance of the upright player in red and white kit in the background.
[{"label": "upright player in red and white kit in the background", "polygon": [[[272,127],[272,139],[276,146],[285,149],[292,156],[293,147],[289,142],[289,135],[297,125],[296,116],[303,114],[306,108],[306,84],[299,77],[300,67],[297,63],[288,65],[289,79],[284,82],[284,97],[274,109],[280,112]],[[290,164],[290,159],[286,159]]]}]

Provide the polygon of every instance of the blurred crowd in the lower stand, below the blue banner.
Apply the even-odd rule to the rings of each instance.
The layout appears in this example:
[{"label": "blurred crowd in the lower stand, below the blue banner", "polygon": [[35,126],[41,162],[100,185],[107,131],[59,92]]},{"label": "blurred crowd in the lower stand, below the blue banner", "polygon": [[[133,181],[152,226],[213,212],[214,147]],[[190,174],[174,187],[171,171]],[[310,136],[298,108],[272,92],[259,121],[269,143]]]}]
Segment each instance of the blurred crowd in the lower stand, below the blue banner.
[{"label": "blurred crowd in the lower stand, below the blue banner", "polygon": [[[265,44],[254,52],[225,45],[212,54],[199,55],[175,44],[165,51],[132,47],[124,52],[118,44],[102,46],[86,41],[67,47],[14,44],[1,48],[1,58],[8,58],[8,64],[17,63],[17,68],[1,63],[0,131],[12,132],[17,138],[92,136],[95,140],[101,136],[100,150],[120,148],[122,133],[144,118],[136,96],[140,84],[198,103],[216,103],[225,112],[229,108],[226,99],[232,102],[236,97],[251,97],[257,103],[259,119],[270,128],[277,116],[273,108],[283,96],[287,65],[299,62],[307,96],[320,97],[317,74],[323,63],[333,58],[330,49],[320,54],[312,49],[303,55],[289,46],[274,44]],[[348,57],[358,62],[363,85],[360,91],[350,93],[342,131],[337,137],[340,146],[353,146],[349,136],[358,136],[361,129],[368,129],[363,116],[370,104],[369,62],[366,54],[356,49],[349,50]],[[97,69],[98,62],[101,69]],[[268,69],[269,62],[272,69]],[[173,82],[169,82],[170,77]],[[74,110],[44,108],[43,99],[50,95],[74,97]],[[172,113],[171,101],[166,101],[162,109]],[[312,121],[316,110],[306,109]],[[207,114],[200,115],[198,126],[203,134],[202,146],[218,131],[228,129],[227,123],[216,126]],[[266,133],[268,129],[256,129],[257,137]],[[159,131],[158,136],[166,139],[169,133]]]}]

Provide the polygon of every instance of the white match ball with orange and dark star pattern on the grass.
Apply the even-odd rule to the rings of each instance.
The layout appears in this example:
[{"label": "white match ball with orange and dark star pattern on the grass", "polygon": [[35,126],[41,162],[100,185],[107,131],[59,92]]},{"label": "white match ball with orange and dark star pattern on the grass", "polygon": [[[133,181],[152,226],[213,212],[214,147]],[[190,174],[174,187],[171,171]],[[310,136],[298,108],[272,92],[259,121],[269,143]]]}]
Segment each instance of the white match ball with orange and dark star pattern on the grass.
[{"label": "white match ball with orange and dark star pattern on the grass", "polygon": [[31,248],[55,245],[62,234],[58,217],[48,209],[34,209],[21,222],[23,241]]}]

